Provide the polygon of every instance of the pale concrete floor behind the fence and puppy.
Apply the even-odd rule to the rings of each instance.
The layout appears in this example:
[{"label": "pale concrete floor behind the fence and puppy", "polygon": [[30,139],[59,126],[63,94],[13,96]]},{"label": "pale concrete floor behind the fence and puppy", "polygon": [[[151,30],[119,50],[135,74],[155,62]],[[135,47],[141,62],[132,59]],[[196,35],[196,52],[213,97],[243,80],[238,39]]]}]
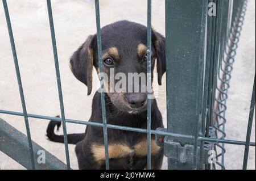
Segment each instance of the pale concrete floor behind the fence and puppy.
[{"label": "pale concrete floor behind the fence and puppy", "polygon": [[[88,120],[90,117],[93,94],[86,96],[86,87],[73,76],[68,63],[69,57],[85,41],[86,37],[96,32],[93,2],[90,0],[52,1],[65,116],[69,119]],[[8,5],[27,112],[47,116],[59,115],[59,99],[46,3],[39,0],[9,0]],[[105,0],[101,1],[100,8],[101,26],[122,19],[146,25],[146,0],[122,0],[118,3]],[[152,1],[152,26],[156,31],[164,34],[164,1]],[[0,5],[0,37],[0,109],[22,112],[2,5]],[[228,139],[245,140],[254,72],[255,1],[249,0],[232,73],[233,78],[230,82],[226,112]],[[93,91],[96,91],[98,87],[95,74],[94,71]],[[158,102],[160,111],[164,115],[166,110],[165,80],[163,82],[163,86],[160,87],[163,95],[158,98]],[[19,131],[26,133],[22,117],[5,114],[0,114],[0,117]],[[29,121],[32,140],[65,162],[64,145],[50,142],[45,136],[48,121],[32,118]],[[164,124],[166,125],[166,119],[164,119]],[[80,133],[84,130],[83,125],[67,124],[68,133]],[[255,117],[251,141],[255,142]],[[74,149],[74,145],[69,145],[71,167],[77,169]],[[243,146],[226,145],[226,149],[226,168],[241,169]],[[164,159],[163,169],[166,168],[166,159]],[[24,167],[0,151],[0,169],[24,169]],[[248,169],[255,169],[255,148],[250,149]]]}]

